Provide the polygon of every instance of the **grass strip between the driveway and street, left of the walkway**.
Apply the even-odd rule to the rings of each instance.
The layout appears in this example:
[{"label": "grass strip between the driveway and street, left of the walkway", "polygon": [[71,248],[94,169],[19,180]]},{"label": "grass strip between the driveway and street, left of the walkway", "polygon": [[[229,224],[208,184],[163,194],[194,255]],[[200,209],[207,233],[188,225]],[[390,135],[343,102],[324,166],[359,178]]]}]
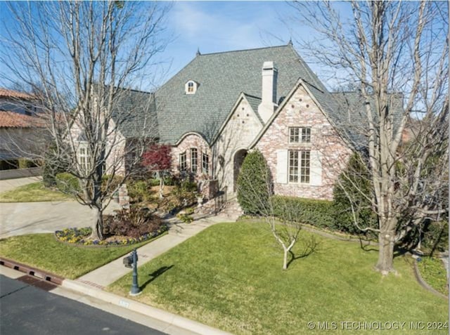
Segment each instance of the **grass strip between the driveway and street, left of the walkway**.
[{"label": "grass strip between the driveway and street, left of the walkway", "polygon": [[0,256],[75,279],[150,241],[124,247],[75,247],[58,242],[53,234],[32,234],[1,239]]}]

